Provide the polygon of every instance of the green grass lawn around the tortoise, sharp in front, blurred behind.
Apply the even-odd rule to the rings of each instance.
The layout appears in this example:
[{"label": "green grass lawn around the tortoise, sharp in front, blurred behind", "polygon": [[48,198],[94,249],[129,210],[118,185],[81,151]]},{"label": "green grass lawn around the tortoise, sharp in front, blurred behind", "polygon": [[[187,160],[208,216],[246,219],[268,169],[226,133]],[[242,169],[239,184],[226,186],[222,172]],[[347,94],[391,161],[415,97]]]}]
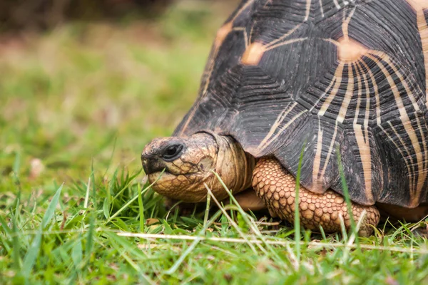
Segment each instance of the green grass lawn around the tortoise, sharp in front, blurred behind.
[{"label": "green grass lawn around the tortoise, sharp in front, blurred behind", "polygon": [[427,284],[412,225],[295,235],[236,206],[180,217],[148,187],[139,154],[193,103],[230,8],[183,1],[0,47],[0,284]]}]

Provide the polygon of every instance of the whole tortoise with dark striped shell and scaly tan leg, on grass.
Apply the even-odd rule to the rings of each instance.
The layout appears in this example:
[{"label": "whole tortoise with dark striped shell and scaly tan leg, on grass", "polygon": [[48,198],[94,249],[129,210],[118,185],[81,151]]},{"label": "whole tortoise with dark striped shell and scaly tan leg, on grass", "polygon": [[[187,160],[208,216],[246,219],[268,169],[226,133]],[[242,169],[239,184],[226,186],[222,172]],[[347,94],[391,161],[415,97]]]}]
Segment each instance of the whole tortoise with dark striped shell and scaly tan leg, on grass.
[{"label": "whole tortoise with dark striped shell and scaly tan leg, on grass", "polygon": [[[200,91],[141,155],[156,192],[206,184],[307,229],[428,214],[428,0],[247,0],[218,30]],[[302,156],[300,154],[302,153]],[[156,180],[162,170],[163,176]],[[348,214],[345,190],[352,201]]]}]

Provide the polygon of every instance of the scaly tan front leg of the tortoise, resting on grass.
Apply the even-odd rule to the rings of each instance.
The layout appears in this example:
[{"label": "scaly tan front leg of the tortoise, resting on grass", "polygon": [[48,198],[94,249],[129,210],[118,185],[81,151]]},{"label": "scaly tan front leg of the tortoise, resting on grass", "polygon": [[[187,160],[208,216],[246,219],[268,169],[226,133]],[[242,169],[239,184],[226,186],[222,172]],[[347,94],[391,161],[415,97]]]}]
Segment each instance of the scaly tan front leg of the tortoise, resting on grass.
[{"label": "scaly tan front leg of the tortoise, resting on grass", "polygon": [[[275,158],[263,157],[255,165],[255,192],[264,199],[270,212],[288,222],[294,222],[295,217],[295,186],[295,177]],[[374,206],[362,206],[352,202],[352,218],[355,221],[360,219],[363,210],[366,210],[367,214],[359,234],[369,236],[373,232],[372,226],[377,226],[380,214]],[[332,190],[317,194],[300,187],[299,214],[300,224],[307,229],[319,230],[322,226],[325,232],[340,232],[340,216],[343,217],[347,230],[351,226],[345,199]]]}]

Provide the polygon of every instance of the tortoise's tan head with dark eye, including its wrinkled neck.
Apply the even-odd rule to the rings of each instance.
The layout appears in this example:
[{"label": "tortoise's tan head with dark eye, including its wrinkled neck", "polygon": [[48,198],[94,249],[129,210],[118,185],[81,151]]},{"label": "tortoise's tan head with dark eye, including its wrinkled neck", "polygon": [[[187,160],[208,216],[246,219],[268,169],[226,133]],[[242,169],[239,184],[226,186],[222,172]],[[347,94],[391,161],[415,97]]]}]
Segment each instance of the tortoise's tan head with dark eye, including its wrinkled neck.
[{"label": "tortoise's tan head with dark eye, including its wrinkled neck", "polygon": [[249,187],[251,181],[245,170],[251,167],[243,164],[254,165],[254,159],[247,157],[232,138],[197,133],[187,138],[152,140],[144,147],[141,162],[153,190],[172,199],[201,202],[208,193],[205,184],[219,199],[227,196],[212,170],[218,172],[229,189]]}]

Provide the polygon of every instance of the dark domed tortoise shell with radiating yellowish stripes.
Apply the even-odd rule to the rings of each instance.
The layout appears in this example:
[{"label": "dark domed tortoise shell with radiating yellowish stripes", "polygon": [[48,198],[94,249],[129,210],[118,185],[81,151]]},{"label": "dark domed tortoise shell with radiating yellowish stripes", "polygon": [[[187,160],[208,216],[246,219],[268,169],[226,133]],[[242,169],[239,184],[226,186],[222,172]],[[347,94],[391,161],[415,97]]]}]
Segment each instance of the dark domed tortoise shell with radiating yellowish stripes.
[{"label": "dark domed tortoise shell with radiating yellowish stripes", "polygon": [[[174,135],[230,135],[312,192],[428,202],[428,0],[248,0]],[[340,166],[341,165],[341,166]],[[343,175],[341,175],[343,171]]]}]

